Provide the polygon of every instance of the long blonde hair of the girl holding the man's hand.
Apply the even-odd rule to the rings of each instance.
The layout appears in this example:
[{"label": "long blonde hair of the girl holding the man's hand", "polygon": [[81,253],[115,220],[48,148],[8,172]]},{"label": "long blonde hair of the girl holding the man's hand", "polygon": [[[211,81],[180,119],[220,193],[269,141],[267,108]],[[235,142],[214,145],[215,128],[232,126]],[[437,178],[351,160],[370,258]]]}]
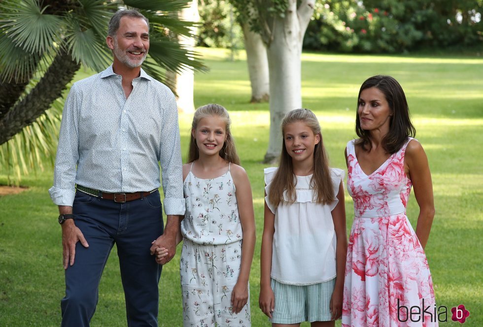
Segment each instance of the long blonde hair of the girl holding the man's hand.
[{"label": "long blonde hair of the girl holding the man's hand", "polygon": [[235,142],[233,140],[233,135],[230,129],[232,123],[230,115],[228,115],[228,111],[225,109],[225,107],[214,103],[209,103],[207,105],[201,106],[195,111],[195,114],[193,116],[193,122],[191,123],[191,138],[188,148],[188,163],[192,163],[200,158],[200,151],[198,150],[198,145],[196,144],[196,139],[193,136],[192,131],[196,131],[200,120],[206,117],[213,116],[218,116],[225,122],[226,140],[225,143],[223,143],[223,147],[219,152],[220,157],[230,163],[240,164],[240,158],[238,157],[237,149],[235,148]]}]

